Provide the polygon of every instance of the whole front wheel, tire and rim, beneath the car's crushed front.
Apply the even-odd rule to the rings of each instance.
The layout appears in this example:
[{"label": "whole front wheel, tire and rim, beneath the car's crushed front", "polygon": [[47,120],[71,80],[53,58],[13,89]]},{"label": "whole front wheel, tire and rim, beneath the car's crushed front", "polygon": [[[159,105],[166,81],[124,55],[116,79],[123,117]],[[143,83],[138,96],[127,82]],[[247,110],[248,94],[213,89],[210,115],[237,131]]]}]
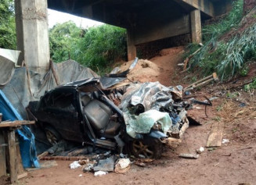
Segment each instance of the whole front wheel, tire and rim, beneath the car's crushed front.
[{"label": "whole front wheel, tire and rim, beneath the car's crushed front", "polygon": [[156,138],[135,140],[130,144],[130,151],[136,158],[160,158],[163,152],[163,144]]}]

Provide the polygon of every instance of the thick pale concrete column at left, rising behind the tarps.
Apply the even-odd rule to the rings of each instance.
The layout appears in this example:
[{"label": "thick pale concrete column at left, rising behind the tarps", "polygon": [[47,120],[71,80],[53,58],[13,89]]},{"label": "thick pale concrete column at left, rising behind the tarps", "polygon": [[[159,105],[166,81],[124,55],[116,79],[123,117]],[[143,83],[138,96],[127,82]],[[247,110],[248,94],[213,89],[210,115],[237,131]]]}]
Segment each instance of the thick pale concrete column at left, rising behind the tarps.
[{"label": "thick pale concrete column at left, rising behind the tarps", "polygon": [[15,0],[18,64],[29,68],[49,68],[47,0]]}]

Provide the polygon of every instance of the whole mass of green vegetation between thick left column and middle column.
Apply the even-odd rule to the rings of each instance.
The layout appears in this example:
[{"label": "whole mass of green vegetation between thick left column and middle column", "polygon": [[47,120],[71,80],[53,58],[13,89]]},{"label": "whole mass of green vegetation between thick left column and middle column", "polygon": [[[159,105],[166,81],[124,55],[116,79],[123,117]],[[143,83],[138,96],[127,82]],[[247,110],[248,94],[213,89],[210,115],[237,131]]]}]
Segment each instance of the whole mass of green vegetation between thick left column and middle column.
[{"label": "whole mass of green vegetation between thick left column and middle column", "polygon": [[51,58],[54,62],[74,59],[98,73],[126,55],[126,32],[120,27],[102,25],[88,30],[73,22],[57,24],[49,30]]}]

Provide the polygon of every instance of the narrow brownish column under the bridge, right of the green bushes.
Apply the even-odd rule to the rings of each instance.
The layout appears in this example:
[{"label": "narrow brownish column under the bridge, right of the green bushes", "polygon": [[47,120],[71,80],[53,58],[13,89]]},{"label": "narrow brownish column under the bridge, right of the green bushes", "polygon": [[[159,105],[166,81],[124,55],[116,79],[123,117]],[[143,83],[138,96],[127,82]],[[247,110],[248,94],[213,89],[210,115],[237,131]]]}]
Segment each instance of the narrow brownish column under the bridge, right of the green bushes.
[{"label": "narrow brownish column under the bridge, right of the green bushes", "polygon": [[127,50],[128,61],[134,60],[137,54],[134,41],[134,32],[132,30],[127,30]]}]

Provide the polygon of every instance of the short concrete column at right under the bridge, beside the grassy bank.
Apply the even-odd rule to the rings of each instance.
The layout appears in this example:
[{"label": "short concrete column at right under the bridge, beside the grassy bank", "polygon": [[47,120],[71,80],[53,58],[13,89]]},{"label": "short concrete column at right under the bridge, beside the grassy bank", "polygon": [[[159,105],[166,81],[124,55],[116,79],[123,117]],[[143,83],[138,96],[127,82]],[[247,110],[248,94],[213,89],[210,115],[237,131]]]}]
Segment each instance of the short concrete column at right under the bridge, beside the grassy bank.
[{"label": "short concrete column at right under the bridge, beside the grassy bank", "polygon": [[202,29],[201,29],[201,16],[200,10],[196,9],[190,12],[190,23],[191,23],[191,39],[192,42],[202,42]]}]

